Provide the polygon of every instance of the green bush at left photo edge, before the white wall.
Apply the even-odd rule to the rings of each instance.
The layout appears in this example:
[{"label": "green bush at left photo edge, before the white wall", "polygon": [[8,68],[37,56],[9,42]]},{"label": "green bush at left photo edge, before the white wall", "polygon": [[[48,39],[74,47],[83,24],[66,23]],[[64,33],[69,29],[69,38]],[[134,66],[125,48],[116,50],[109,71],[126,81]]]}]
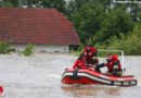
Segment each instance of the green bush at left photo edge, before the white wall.
[{"label": "green bush at left photo edge, before the white wall", "polygon": [[0,53],[10,53],[12,50],[9,49],[11,42],[7,42],[7,41],[1,41],[0,42]]}]

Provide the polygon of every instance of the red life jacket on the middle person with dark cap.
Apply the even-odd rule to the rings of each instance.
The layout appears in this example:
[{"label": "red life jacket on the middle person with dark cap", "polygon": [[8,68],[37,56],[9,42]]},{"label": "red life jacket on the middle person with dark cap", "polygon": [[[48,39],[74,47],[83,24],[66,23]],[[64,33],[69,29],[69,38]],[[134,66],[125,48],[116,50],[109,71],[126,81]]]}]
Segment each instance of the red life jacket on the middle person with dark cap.
[{"label": "red life jacket on the middle person with dark cap", "polygon": [[[94,47],[92,47],[92,49],[89,52],[87,52],[87,49],[85,48],[85,56],[86,56],[86,61],[87,62],[91,62],[92,61],[93,52],[95,52],[95,51],[97,50],[95,50]],[[98,58],[97,58],[97,62],[98,62]]]}]

